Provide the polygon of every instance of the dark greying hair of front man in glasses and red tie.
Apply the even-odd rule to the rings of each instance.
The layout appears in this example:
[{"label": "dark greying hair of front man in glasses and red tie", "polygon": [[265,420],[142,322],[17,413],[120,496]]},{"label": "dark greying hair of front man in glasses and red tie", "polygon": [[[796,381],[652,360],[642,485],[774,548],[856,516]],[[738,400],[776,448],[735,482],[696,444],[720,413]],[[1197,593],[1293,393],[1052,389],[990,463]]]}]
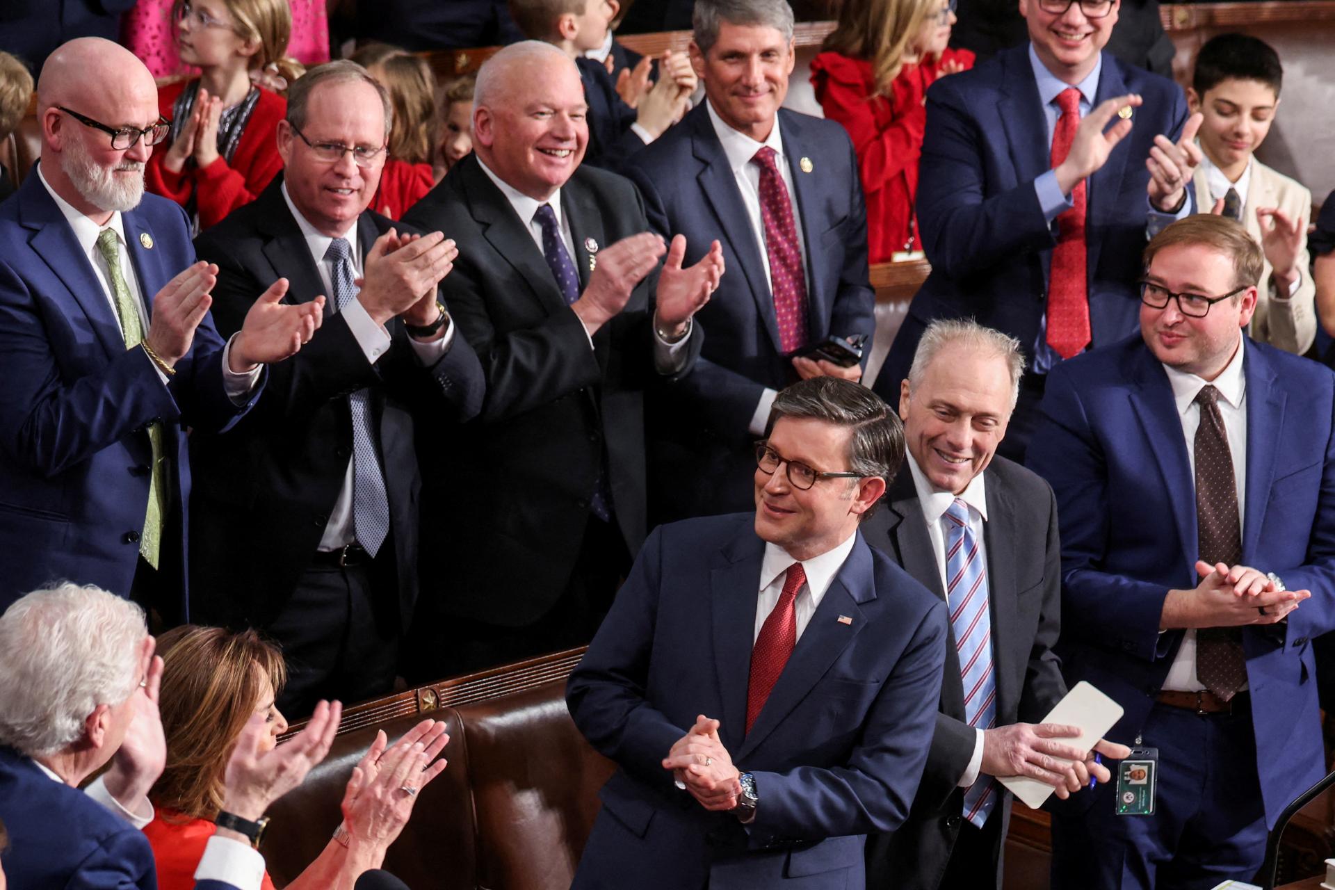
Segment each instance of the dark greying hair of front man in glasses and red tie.
[{"label": "dark greying hair of front man in glasses and red tie", "polygon": [[[840,378],[798,380],[774,396],[768,436],[780,418],[809,418],[849,427],[848,467],[889,484],[904,463],[904,424],[889,406],[864,386]],[[876,512],[876,504],[860,518]]]}]

